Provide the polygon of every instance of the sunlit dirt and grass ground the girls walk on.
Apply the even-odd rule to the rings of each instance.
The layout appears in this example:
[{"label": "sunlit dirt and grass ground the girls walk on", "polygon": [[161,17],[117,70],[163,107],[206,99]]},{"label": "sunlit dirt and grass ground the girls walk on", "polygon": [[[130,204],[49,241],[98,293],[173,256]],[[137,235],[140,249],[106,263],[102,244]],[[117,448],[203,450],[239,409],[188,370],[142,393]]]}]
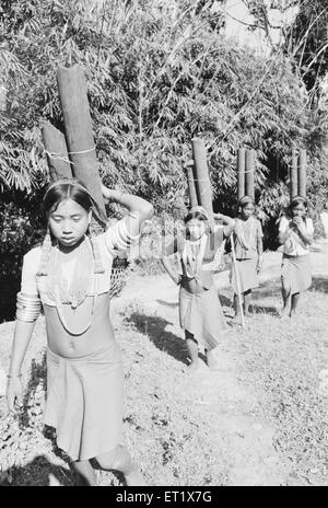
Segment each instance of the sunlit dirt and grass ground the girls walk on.
[{"label": "sunlit dirt and grass ground the girls walk on", "polygon": [[[260,277],[261,287],[254,295],[256,314],[246,322],[245,328],[230,327],[218,347],[216,357],[220,367],[218,372],[211,372],[203,363],[194,377],[187,373],[185,343],[178,325],[178,292],[168,276],[136,276],[129,280],[120,298],[113,300],[113,321],[117,338],[124,349],[125,370],[129,383],[126,435],[131,448],[139,451],[139,457],[144,457],[143,470],[150,472],[150,481],[153,481],[151,473],[153,467],[159,485],[196,485],[198,481],[201,482],[199,485],[267,486],[309,483],[307,473],[304,476],[307,480],[302,480],[304,471],[300,467],[297,452],[303,453],[303,435],[307,442],[311,435],[306,432],[315,435],[318,432],[318,427],[324,428],[320,406],[312,404],[316,393],[318,365],[321,369],[328,367],[328,351],[325,349],[326,343],[324,344],[328,319],[326,321],[323,319],[323,322],[317,319],[320,312],[326,313],[328,309],[327,296],[326,300],[321,300],[320,296],[321,288],[323,291],[328,292],[325,278],[328,276],[327,255],[327,246],[320,252],[312,253],[313,272],[317,276],[315,292],[309,292],[302,303],[301,310],[304,316],[301,318],[300,323],[291,323],[286,328],[274,314],[274,307],[280,302],[281,254],[266,254],[265,269]],[[215,284],[220,289],[229,321],[232,315],[229,300],[231,293],[227,289],[229,273],[216,274]],[[312,301],[315,305],[313,310],[308,308]],[[312,323],[309,323],[311,319]],[[3,360],[4,368],[9,362],[13,327],[14,323],[3,323],[0,326],[0,359]],[[34,377],[30,378],[33,381],[31,393],[34,401],[30,409],[32,411],[30,419],[34,423],[34,428],[26,427],[26,424],[23,430],[19,428],[14,430],[17,434],[15,436],[10,430],[12,424],[7,425],[5,432],[12,434],[11,463],[16,464],[17,455],[22,460],[22,465],[15,470],[13,478],[19,485],[71,485],[72,476],[67,462],[56,450],[54,451],[51,443],[43,438],[39,430],[43,402],[39,402],[38,397],[44,396],[43,390],[38,392],[44,377],[42,367],[44,327],[44,320],[38,320],[35,346],[28,351],[25,362],[27,366],[33,365],[35,359],[38,361],[33,367]],[[300,330],[303,330],[304,336],[298,339]],[[314,342],[307,342],[311,333],[317,334]],[[315,361],[315,355],[318,361]],[[286,366],[284,358],[288,359]],[[271,359],[273,361],[270,370],[267,365]],[[293,361],[298,361],[295,373],[291,372]],[[312,378],[306,378],[308,370],[313,371]],[[167,376],[172,379],[168,380]],[[288,380],[288,385],[283,386],[282,392],[279,389],[279,379],[276,386],[276,379],[279,376],[282,377],[283,382]],[[313,379],[314,382],[309,385]],[[296,397],[294,397],[292,390],[298,388],[303,380],[301,397],[298,392],[295,392]],[[285,389],[289,393],[283,399]],[[277,401],[272,401],[272,397],[277,397]],[[295,409],[292,406],[293,397]],[[3,402],[3,397],[0,397],[0,419],[1,411],[3,415],[5,414],[4,403],[2,404],[1,401]],[[273,412],[277,413],[281,404],[282,413],[279,418],[284,427],[282,425],[278,428],[281,422],[279,418],[271,418],[271,409],[273,407]],[[286,409],[283,409],[283,404]],[[142,405],[144,405],[143,411],[140,409]],[[181,405],[186,405],[186,408]],[[292,408],[288,414],[289,407]],[[314,422],[304,419],[303,423],[302,416],[305,413],[312,418],[315,412]],[[283,420],[285,414],[288,417]],[[26,431],[31,437],[25,435]],[[277,435],[280,440],[285,439],[284,447],[291,441],[291,451],[283,453],[281,447],[277,447]],[[186,436],[189,436],[189,441]],[[296,438],[293,440],[294,436]],[[150,438],[149,442],[148,438]],[[199,438],[195,449],[191,444],[194,438],[196,441]],[[312,459],[315,469],[319,469],[320,465],[319,454],[326,453],[320,442],[320,437],[314,441],[314,446],[318,446],[318,454],[314,454]],[[306,446],[305,443],[304,450]],[[188,447],[191,447],[192,457],[188,454]],[[3,457],[8,455],[7,448],[2,450]],[[20,448],[23,452],[20,452]],[[27,459],[24,450],[35,452],[36,457],[33,459],[32,454],[32,459]],[[288,455],[294,460],[294,464],[286,458]],[[159,457],[163,458],[163,463],[159,462]],[[186,464],[185,469],[183,467],[181,472],[176,471],[183,463]],[[167,471],[161,483],[159,475],[163,471],[163,464],[166,464]],[[12,469],[10,464],[1,463],[0,453],[0,476],[1,469],[4,471],[3,481],[7,484]],[[300,474],[295,475],[295,471]],[[218,472],[216,476],[213,472]],[[104,485],[113,481],[113,477],[107,475],[104,477]],[[318,484],[323,484],[321,477]]]}]

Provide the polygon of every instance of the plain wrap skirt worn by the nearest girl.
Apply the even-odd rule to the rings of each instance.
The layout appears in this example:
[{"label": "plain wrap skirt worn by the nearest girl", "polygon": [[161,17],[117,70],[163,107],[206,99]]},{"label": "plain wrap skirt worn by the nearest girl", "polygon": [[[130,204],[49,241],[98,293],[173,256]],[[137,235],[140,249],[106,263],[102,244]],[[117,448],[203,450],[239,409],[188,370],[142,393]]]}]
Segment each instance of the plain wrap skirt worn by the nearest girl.
[{"label": "plain wrap skirt worn by the nearest girl", "polygon": [[44,423],[73,461],[113,450],[121,440],[124,370],[120,350],[108,347],[82,358],[47,350]]}]

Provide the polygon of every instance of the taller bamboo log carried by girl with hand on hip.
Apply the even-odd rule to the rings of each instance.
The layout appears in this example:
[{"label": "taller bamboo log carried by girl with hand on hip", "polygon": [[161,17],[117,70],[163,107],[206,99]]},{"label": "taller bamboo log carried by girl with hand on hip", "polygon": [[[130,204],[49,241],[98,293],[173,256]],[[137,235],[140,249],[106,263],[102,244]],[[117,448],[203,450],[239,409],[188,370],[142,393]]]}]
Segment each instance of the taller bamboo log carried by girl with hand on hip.
[{"label": "taller bamboo log carried by girl with hand on hip", "polygon": [[210,222],[214,222],[212,189],[207,163],[207,150],[202,139],[194,138],[192,158],[194,158],[194,180],[198,204],[201,205],[210,216]]}]

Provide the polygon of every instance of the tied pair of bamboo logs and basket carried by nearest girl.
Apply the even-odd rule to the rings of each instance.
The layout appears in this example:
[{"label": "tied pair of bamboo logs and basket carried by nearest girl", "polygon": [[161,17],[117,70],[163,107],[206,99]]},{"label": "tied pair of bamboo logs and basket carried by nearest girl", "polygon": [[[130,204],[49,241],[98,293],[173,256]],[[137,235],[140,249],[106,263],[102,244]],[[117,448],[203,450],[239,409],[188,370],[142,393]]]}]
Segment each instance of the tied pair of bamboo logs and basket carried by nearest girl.
[{"label": "tied pair of bamboo logs and basket carried by nearest girl", "polygon": [[[49,122],[43,128],[43,140],[47,154],[50,178],[78,178],[94,200],[94,215],[105,228],[107,217],[102,195],[102,181],[92,131],[84,71],[81,66],[59,67],[57,83],[62,108],[65,134]],[[113,262],[110,296],[122,289],[127,278],[127,259],[117,257]]]}]

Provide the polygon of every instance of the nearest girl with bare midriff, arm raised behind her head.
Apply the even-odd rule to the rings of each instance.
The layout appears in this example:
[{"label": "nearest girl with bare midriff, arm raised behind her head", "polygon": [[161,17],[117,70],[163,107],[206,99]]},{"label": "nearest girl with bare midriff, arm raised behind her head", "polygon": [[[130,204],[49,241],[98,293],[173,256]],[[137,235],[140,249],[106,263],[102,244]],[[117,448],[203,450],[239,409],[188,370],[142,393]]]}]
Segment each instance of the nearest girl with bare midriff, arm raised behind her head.
[{"label": "nearest girl with bare midriff, arm raised behind her head", "polygon": [[80,485],[96,485],[91,459],[124,473],[128,485],[145,485],[121,446],[124,370],[109,289],[113,258],[139,238],[153,207],[104,186],[103,195],[129,213],[95,238],[87,234],[93,200],[83,185],[58,181],[44,197],[48,232],[43,245],[24,256],[7,399],[16,414],[23,403],[21,367],[42,305],[48,340],[44,420],[56,428],[57,444],[72,459]]}]

